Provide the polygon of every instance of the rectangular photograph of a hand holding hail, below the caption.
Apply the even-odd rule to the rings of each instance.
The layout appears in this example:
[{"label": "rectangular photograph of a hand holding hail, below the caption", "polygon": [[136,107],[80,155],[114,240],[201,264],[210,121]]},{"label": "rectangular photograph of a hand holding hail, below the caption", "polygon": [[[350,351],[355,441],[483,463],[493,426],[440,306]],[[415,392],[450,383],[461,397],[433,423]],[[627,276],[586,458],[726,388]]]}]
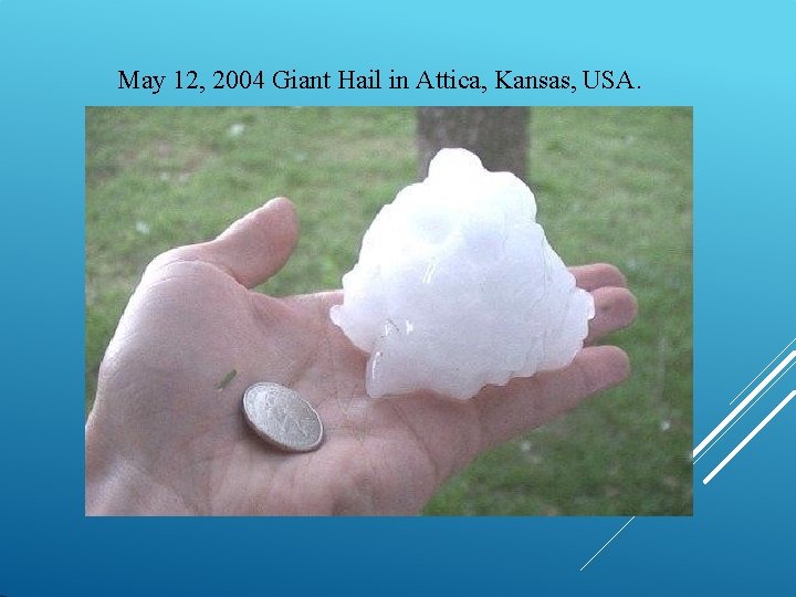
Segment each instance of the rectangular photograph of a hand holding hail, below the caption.
[{"label": "rectangular photograph of a hand holding hail, below the caption", "polygon": [[85,514],[691,516],[691,107],[86,107]]}]

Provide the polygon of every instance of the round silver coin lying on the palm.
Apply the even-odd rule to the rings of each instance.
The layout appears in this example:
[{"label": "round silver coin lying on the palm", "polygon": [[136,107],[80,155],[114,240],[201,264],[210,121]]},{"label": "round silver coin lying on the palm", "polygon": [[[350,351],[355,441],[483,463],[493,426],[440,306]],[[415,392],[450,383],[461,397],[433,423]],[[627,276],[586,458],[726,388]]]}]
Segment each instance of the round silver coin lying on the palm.
[{"label": "round silver coin lying on the palm", "polygon": [[243,413],[262,439],[291,452],[315,450],[323,441],[323,423],[301,394],[280,384],[254,384],[243,395]]}]

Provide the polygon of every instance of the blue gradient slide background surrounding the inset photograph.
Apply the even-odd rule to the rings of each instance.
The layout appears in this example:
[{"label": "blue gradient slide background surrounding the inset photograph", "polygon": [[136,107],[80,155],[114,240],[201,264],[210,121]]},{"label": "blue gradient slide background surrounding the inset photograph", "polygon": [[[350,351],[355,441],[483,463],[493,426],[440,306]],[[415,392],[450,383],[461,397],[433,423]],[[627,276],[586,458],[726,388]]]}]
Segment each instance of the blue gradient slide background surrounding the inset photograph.
[{"label": "blue gradient slide background surrounding the inset photograph", "polygon": [[[85,519],[86,105],[694,106],[694,439],[796,336],[796,2],[0,0],[0,595],[787,591],[796,404],[701,479],[694,516]],[[635,91],[119,91],[119,69],[627,70]],[[746,420],[748,419],[748,421]],[[716,452],[713,454],[713,452]]]}]

